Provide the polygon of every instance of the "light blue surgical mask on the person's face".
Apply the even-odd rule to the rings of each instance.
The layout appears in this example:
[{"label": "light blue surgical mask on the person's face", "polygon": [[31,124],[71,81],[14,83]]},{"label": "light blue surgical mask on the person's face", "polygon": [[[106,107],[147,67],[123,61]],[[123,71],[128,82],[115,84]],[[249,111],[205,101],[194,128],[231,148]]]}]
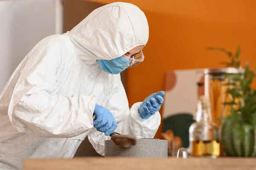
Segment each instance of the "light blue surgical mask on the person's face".
[{"label": "light blue surgical mask on the person's face", "polygon": [[[130,60],[124,57],[118,57],[116,59],[106,60],[106,59],[97,59],[96,60],[103,71],[109,74],[119,74],[128,68]],[[124,64],[127,64],[123,66]]]}]

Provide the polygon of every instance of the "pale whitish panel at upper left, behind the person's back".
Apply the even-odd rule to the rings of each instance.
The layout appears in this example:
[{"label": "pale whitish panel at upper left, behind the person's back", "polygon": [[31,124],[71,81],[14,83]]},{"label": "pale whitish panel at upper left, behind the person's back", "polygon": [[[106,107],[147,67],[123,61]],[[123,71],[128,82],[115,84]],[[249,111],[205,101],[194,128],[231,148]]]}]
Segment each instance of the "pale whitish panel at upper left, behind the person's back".
[{"label": "pale whitish panel at upper left, behind the person's back", "polygon": [[60,0],[0,1],[0,92],[36,43],[62,33],[62,9]]}]

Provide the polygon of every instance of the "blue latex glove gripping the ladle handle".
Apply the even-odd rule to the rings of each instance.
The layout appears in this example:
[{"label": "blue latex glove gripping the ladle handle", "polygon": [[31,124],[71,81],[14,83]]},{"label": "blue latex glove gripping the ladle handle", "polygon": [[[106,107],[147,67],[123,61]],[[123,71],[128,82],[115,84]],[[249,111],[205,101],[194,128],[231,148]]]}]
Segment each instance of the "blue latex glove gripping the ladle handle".
[{"label": "blue latex glove gripping the ladle handle", "polygon": [[93,126],[100,132],[104,132],[106,136],[113,133],[117,127],[117,122],[112,113],[101,107],[100,105],[95,105],[94,112],[96,119],[93,120]]}]

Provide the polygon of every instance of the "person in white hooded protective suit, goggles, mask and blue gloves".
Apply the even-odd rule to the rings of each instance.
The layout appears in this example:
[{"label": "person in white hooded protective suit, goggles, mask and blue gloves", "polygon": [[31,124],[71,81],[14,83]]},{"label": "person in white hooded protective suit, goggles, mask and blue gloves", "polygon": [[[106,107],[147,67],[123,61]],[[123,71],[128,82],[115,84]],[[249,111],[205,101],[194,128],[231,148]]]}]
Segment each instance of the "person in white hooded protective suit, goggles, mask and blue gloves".
[{"label": "person in white hooded protective suit, goggles, mask and blue gloves", "polygon": [[86,136],[104,155],[114,130],[153,138],[164,92],[129,109],[119,74],[143,61],[147,41],[143,11],[111,3],[38,42],[0,95],[0,169],[22,169],[25,158],[72,158]]}]

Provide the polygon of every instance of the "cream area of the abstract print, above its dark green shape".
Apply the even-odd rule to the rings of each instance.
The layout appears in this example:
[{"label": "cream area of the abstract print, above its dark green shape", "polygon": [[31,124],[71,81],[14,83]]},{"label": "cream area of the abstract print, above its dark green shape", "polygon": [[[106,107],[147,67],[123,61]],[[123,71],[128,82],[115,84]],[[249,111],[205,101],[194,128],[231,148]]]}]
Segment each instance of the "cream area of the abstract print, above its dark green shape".
[{"label": "cream area of the abstract print, above its dark green shape", "polygon": [[[163,119],[180,113],[194,113],[197,110],[197,82],[204,75],[204,69],[175,70],[175,86],[164,95]],[[167,88],[167,87],[166,87]]]}]

